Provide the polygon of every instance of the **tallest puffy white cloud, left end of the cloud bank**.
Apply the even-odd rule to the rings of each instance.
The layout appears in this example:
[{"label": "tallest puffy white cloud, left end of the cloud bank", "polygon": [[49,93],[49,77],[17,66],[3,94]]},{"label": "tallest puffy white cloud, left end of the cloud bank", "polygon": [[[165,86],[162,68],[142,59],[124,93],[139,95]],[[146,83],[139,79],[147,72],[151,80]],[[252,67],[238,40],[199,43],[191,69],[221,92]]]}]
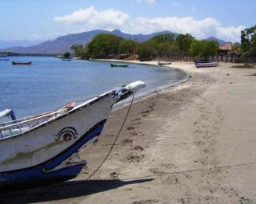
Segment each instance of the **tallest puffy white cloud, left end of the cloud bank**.
[{"label": "tallest puffy white cloud, left end of the cloud bank", "polygon": [[84,10],[76,10],[73,14],[55,17],[54,21],[87,26],[124,26],[128,18],[128,14],[119,10],[98,11],[90,6]]}]

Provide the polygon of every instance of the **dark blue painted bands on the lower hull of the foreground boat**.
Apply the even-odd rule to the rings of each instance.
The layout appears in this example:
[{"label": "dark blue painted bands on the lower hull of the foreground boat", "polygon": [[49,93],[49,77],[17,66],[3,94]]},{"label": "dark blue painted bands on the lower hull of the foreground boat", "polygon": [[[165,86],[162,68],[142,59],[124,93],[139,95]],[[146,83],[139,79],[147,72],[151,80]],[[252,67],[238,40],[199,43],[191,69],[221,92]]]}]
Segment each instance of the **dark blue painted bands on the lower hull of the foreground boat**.
[{"label": "dark blue painted bands on the lower hull of the foreground boat", "polygon": [[46,161],[46,163],[39,164],[35,167],[30,167],[20,171],[10,171],[0,175],[0,190],[14,190],[31,186],[48,185],[55,182],[63,182],[75,178],[86,163],[78,163],[72,167],[62,168],[56,171],[50,171],[54,167],[58,167],[66,159],[70,158],[74,152],[79,148],[90,142],[102,132],[102,128],[106,120],[102,120],[96,124],[90,131],[86,132],[72,147],[63,151],[56,157]]}]

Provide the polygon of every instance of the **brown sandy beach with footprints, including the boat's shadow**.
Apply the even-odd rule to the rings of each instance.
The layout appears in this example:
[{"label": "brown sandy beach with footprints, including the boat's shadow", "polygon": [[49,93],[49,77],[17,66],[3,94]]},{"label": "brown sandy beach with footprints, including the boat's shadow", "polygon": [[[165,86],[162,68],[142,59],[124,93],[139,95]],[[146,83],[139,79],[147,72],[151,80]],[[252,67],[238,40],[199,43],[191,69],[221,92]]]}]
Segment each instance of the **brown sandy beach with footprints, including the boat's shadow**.
[{"label": "brown sandy beach with footprints, including the boat's shadow", "polygon": [[89,167],[77,179],[0,194],[0,202],[256,203],[256,70],[230,65],[174,62],[192,77],[134,103],[93,178],[84,181],[109,151],[127,107],[112,112],[99,142],[82,151]]}]

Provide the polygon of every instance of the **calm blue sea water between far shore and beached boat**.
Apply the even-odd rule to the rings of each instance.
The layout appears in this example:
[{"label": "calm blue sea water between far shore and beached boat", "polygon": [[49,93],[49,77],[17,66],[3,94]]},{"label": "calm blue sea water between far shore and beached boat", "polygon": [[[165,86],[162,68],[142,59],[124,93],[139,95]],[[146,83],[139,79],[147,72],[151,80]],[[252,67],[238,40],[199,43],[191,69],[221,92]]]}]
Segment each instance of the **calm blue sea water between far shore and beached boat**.
[{"label": "calm blue sea water between far shore and beached boat", "polygon": [[[140,93],[175,84],[185,73],[149,65],[111,68],[102,61],[62,61],[54,57],[9,57],[0,61],[0,111],[13,109],[18,118],[47,112],[70,101],[97,96],[136,80]],[[32,61],[32,65],[12,65]]]}]

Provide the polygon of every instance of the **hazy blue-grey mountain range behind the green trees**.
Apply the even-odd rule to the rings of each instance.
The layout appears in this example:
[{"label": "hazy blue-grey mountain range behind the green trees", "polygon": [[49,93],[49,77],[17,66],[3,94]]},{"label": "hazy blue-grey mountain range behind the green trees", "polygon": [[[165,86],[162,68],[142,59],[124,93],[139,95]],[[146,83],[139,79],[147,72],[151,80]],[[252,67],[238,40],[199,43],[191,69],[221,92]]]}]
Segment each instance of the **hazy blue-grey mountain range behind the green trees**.
[{"label": "hazy blue-grey mountain range behind the green trees", "polygon": [[[163,33],[171,33],[174,34],[174,37],[178,36],[178,33],[172,33],[170,31],[162,31],[158,33],[151,34],[128,34],[122,33],[118,29],[114,29],[113,31],[107,31],[103,29],[95,29],[88,32],[83,33],[74,33],[68,34],[66,36],[57,37],[53,41],[43,41],[38,45],[30,45],[30,46],[11,46],[10,48],[0,49],[2,52],[12,52],[12,53],[38,53],[38,54],[58,54],[65,52],[72,52],[70,47],[74,44],[78,45],[86,45],[96,34],[98,33],[114,33],[118,37],[123,37],[126,39],[131,39],[134,41],[146,41],[150,38],[157,36]],[[219,40],[216,37],[208,37],[206,40],[215,40],[218,41],[220,45],[225,44],[225,41]],[[0,41],[1,42],[1,41]],[[1,44],[0,44],[1,45]]]}]

